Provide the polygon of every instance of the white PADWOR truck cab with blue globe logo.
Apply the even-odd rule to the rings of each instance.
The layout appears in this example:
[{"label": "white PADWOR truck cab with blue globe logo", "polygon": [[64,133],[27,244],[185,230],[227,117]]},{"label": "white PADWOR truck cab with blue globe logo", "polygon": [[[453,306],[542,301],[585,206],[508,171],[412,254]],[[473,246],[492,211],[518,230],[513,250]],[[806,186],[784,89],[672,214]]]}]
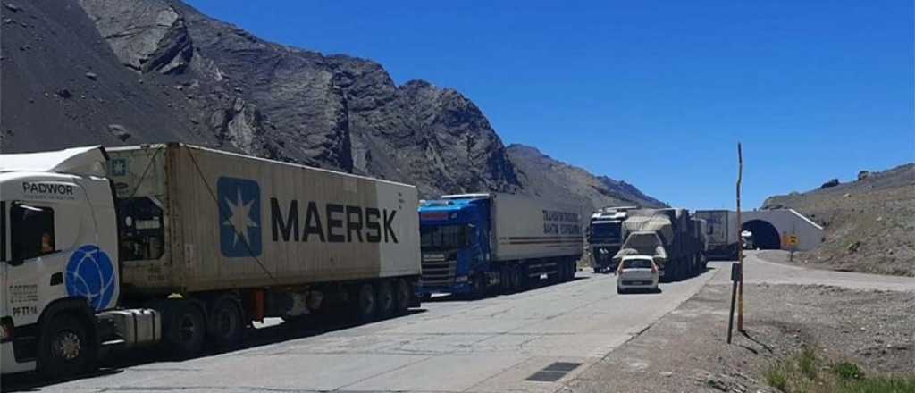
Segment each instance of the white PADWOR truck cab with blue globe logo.
[{"label": "white PADWOR truck cab with blue globe logo", "polygon": [[0,154],[0,365],[91,366],[95,313],[118,301],[117,219],[102,147]]}]

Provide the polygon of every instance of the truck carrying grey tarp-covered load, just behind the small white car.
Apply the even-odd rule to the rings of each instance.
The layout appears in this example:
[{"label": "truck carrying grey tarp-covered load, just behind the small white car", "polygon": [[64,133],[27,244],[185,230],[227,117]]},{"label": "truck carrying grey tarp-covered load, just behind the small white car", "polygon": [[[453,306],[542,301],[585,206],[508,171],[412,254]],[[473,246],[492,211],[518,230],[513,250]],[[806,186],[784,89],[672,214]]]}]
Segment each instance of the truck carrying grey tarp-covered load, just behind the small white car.
[{"label": "truck carrying grey tarp-covered load, just behind the small white car", "polygon": [[664,280],[686,278],[705,270],[704,225],[682,208],[630,210],[623,221],[628,235],[614,260],[651,256]]}]

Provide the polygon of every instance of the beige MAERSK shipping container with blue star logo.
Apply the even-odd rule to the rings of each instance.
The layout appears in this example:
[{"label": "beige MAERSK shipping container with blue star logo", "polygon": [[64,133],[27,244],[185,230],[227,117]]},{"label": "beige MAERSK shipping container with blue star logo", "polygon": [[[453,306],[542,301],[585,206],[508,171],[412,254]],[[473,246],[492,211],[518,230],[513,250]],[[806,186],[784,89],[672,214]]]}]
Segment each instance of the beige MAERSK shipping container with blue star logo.
[{"label": "beige MAERSK shipping container with blue star logo", "polygon": [[414,186],[178,143],[107,151],[127,292],[420,273]]}]

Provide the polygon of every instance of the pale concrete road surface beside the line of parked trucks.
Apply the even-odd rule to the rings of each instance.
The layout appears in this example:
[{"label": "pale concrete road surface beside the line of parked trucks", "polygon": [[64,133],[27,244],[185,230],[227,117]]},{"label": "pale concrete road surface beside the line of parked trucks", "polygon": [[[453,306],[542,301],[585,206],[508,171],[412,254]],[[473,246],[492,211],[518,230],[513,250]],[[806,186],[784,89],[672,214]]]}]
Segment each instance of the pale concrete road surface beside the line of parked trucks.
[{"label": "pale concrete road surface beside the line of parked trucks", "polygon": [[[553,392],[683,303],[713,275],[662,284],[661,293],[618,295],[615,276],[579,272],[576,281],[528,292],[424,303],[424,312],[375,324],[304,333],[291,332],[290,325],[265,327],[252,334],[261,344],[246,349],[182,362],[140,362],[97,377],[22,388]],[[526,380],[555,362],[571,365],[554,369],[573,369],[538,374],[557,381]]]}]

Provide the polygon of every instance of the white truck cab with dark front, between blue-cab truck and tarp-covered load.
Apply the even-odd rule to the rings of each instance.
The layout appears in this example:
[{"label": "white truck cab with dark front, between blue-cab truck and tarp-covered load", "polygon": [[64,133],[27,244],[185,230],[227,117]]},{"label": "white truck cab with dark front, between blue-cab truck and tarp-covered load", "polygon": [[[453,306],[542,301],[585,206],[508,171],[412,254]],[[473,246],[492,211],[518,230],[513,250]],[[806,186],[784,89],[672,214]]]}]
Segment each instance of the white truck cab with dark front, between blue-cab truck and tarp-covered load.
[{"label": "white truck cab with dark front, between blue-cab truck and tarp-covered load", "polygon": [[602,207],[591,215],[587,229],[587,247],[590,249],[591,266],[595,272],[617,270],[613,256],[626,239],[623,221],[626,220],[628,211],[637,208],[639,207]]}]

